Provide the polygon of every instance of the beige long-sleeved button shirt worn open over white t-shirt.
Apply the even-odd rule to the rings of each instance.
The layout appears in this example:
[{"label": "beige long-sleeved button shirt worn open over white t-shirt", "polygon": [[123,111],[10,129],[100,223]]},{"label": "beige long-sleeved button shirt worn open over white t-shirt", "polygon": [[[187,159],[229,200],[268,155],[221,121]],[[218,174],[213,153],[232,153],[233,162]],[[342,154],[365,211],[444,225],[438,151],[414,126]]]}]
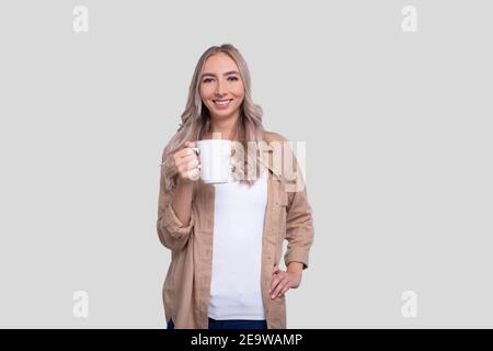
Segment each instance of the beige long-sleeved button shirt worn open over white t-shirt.
[{"label": "beige long-sleeved button shirt worn open over white t-shirt", "polygon": [[[288,241],[284,256],[286,267],[296,261],[303,263],[303,270],[308,268],[309,250],[313,242],[312,213],[305,183],[301,191],[287,191],[290,178],[284,176],[284,167],[278,167],[277,161],[273,162],[274,155],[284,148],[272,145],[283,144],[287,139],[279,134],[265,132],[264,140],[267,145],[263,152],[268,177],[260,283],[267,328],[285,329],[286,297],[271,299],[268,288],[272,272],[279,264],[285,239]],[[291,150],[288,150],[293,156]],[[298,170],[296,159],[293,165]],[[171,264],[162,290],[165,318],[172,318],[175,328],[207,329],[215,188],[202,181],[194,183],[191,220],[185,227],[171,207],[173,195],[164,186],[163,173],[162,170],[157,227],[162,245],[171,250]],[[302,177],[298,177],[298,181],[302,182]]]}]

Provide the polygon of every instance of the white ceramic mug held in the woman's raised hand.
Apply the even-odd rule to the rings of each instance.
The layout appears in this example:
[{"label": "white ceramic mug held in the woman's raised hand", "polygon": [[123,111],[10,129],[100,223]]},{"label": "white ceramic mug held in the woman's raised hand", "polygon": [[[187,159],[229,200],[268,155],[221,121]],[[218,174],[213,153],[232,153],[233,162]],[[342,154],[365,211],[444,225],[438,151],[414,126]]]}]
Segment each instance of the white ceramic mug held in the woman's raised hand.
[{"label": "white ceramic mug held in the woman's raised hand", "polygon": [[200,178],[206,184],[229,181],[231,172],[231,140],[207,139],[196,141],[194,151],[200,160]]}]

